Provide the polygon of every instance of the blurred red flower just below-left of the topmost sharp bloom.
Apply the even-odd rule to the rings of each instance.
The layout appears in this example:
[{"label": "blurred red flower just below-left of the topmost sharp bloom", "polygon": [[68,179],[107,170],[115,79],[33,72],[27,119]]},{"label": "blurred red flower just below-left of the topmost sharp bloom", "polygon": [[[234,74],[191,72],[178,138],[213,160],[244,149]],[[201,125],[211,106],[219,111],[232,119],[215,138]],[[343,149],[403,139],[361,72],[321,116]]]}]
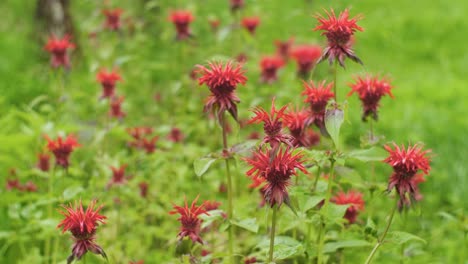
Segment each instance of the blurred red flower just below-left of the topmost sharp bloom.
[{"label": "blurred red flower just below-left of the topmost sharp bloom", "polygon": [[318,45],[300,45],[293,47],[290,55],[296,61],[297,74],[306,78],[322,54]]}]

